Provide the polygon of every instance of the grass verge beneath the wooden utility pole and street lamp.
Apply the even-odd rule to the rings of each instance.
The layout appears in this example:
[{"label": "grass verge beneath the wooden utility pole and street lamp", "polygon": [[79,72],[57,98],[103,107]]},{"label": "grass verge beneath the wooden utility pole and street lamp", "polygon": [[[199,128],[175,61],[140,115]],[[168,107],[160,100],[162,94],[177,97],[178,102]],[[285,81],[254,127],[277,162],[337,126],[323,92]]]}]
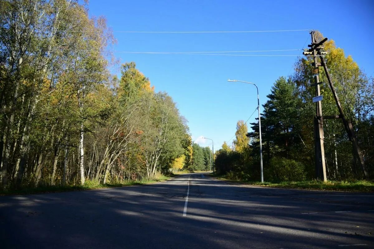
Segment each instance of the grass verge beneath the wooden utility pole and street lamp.
[{"label": "grass verge beneath the wooden utility pole and street lamp", "polygon": [[325,190],[325,191],[344,191],[344,192],[374,192],[374,182],[367,180],[352,181],[280,181],[280,182],[264,182],[260,181],[240,181],[225,178],[222,175],[212,175],[220,180],[232,183],[241,183],[263,187],[276,187],[283,189],[308,189],[308,190]]}]

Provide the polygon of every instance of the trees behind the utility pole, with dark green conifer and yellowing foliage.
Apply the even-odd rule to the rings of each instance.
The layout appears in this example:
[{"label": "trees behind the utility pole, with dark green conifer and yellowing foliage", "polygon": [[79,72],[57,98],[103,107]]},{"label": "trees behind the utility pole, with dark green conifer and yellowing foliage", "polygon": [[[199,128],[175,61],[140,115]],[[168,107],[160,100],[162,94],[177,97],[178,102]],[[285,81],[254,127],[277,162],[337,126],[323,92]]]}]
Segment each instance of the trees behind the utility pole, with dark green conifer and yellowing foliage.
[{"label": "trees behind the utility pole, with dark green conifer and yellowing foliage", "polygon": [[[322,34],[316,32],[317,40]],[[359,167],[341,119],[324,119],[324,145],[329,180],[373,178],[374,175],[374,80],[351,56],[345,56],[333,40],[324,44],[327,67],[346,118],[355,129],[369,176]],[[315,87],[312,57],[300,57],[288,78],[279,77],[267,95],[261,113],[261,137],[265,181],[310,180],[315,178],[313,119]],[[320,81],[323,115],[337,115],[338,109],[325,72]],[[257,118],[258,121],[258,118]],[[237,122],[234,149],[226,142],[216,153],[219,174],[241,180],[260,180],[258,122]]]}]

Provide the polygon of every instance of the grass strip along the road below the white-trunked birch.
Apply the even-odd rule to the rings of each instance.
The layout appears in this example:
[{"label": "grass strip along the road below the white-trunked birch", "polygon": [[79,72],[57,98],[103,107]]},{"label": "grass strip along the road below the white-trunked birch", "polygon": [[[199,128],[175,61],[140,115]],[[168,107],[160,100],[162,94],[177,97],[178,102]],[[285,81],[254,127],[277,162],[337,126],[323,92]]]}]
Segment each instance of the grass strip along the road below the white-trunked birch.
[{"label": "grass strip along the road below the white-trunked birch", "polygon": [[169,180],[171,177],[156,174],[152,180],[141,180],[141,181],[123,181],[118,183],[97,183],[95,181],[86,180],[84,185],[55,185],[55,186],[38,186],[38,187],[24,187],[21,189],[6,189],[0,190],[1,195],[22,195],[22,194],[40,194],[40,193],[56,193],[56,192],[70,192],[70,191],[82,191],[90,189],[105,189],[114,187],[125,187],[134,185],[144,185],[157,182],[163,182]]}]

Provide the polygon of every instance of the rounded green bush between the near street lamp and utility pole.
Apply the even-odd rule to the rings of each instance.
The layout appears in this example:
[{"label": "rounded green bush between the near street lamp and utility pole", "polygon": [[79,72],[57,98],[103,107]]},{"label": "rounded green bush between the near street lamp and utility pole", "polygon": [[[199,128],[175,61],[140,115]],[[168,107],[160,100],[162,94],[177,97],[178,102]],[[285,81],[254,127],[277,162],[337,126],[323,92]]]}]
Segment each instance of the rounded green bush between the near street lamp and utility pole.
[{"label": "rounded green bush between the near street lamp and utility pole", "polygon": [[266,171],[272,180],[301,181],[305,179],[305,166],[292,159],[272,158]]}]

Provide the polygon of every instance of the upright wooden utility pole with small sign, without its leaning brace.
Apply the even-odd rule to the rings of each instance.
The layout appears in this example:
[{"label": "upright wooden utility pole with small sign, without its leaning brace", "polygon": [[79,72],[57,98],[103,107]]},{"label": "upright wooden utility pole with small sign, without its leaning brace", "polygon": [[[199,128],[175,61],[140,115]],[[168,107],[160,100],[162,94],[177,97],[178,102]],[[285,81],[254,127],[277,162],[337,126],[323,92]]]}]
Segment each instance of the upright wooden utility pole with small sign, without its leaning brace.
[{"label": "upright wooden utility pole with small sign, without its leaning brace", "polygon": [[[316,43],[314,37],[314,31],[310,32],[312,37],[312,44],[308,45],[311,47],[309,50],[304,51],[304,55],[313,55],[314,68],[313,68],[313,77],[314,84],[312,86],[316,87],[316,97],[313,98],[313,102],[316,102],[316,116],[314,118],[314,148],[315,148],[315,171],[316,178],[327,181],[326,176],[326,163],[325,163],[325,148],[324,148],[324,128],[323,128],[323,119],[322,119],[322,105],[321,105],[321,92],[319,90],[319,65],[317,62],[317,51],[316,49],[323,44],[327,39]],[[321,96],[321,97],[319,97]],[[314,100],[316,99],[316,101]]]}]

